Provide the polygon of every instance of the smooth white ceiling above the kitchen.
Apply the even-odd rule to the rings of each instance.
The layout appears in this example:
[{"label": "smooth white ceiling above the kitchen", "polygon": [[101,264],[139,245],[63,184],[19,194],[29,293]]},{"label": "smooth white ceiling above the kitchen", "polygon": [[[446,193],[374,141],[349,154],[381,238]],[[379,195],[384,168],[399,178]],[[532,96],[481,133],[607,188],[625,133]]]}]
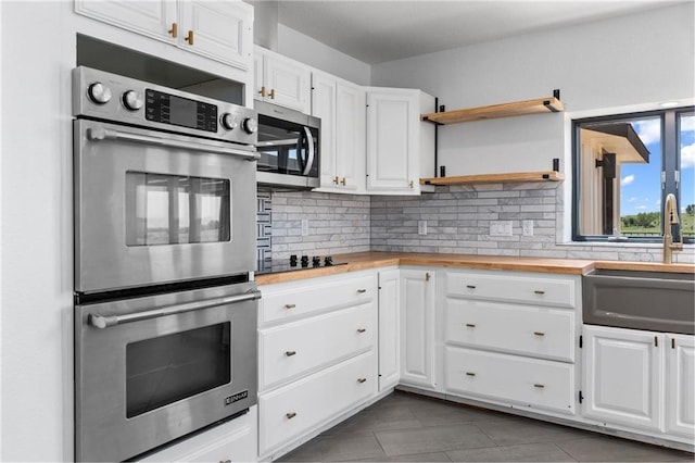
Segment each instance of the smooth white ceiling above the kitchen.
[{"label": "smooth white ceiling above the kitchen", "polygon": [[278,22],[377,64],[681,1],[280,0]]}]

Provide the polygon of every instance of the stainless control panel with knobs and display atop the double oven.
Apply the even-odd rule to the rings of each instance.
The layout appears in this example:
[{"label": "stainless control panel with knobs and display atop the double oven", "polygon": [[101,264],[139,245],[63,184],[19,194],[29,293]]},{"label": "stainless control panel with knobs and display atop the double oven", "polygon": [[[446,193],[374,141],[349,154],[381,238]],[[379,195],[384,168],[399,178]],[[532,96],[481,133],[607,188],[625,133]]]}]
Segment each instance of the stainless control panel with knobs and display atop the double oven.
[{"label": "stainless control panel with knobs and display atop the double oven", "polygon": [[104,71],[73,70],[73,115],[255,146],[256,112]]}]

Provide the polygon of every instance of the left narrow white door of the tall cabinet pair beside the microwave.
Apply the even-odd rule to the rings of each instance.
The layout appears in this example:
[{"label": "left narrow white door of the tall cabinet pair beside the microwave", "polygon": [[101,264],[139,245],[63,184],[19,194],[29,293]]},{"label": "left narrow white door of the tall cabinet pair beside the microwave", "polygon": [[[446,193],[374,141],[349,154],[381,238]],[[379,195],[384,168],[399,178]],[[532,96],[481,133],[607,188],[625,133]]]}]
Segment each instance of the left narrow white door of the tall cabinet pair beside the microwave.
[{"label": "left narrow white door of the tall cabinet pair beside the microwave", "polygon": [[339,185],[336,171],[336,90],[334,78],[312,74],[312,115],[321,120],[321,188],[337,188]]}]

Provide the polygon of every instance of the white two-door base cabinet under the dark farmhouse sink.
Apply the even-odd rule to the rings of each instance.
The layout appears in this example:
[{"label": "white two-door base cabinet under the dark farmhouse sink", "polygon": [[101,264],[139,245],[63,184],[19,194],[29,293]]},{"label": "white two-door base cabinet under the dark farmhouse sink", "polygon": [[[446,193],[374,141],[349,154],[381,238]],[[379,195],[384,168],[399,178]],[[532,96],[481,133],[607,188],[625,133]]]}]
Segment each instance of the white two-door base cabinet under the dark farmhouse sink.
[{"label": "white two-door base cabinet under the dark farmhouse sink", "polygon": [[583,416],[693,443],[695,337],[583,328]]}]

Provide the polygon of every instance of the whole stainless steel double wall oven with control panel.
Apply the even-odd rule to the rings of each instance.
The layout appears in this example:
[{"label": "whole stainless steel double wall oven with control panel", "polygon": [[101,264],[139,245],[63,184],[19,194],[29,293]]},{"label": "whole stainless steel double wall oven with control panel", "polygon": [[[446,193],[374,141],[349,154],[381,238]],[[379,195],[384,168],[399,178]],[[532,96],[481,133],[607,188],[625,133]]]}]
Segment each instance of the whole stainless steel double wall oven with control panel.
[{"label": "whole stainless steel double wall oven with control panel", "polygon": [[73,72],[78,461],[256,402],[253,110]]}]

